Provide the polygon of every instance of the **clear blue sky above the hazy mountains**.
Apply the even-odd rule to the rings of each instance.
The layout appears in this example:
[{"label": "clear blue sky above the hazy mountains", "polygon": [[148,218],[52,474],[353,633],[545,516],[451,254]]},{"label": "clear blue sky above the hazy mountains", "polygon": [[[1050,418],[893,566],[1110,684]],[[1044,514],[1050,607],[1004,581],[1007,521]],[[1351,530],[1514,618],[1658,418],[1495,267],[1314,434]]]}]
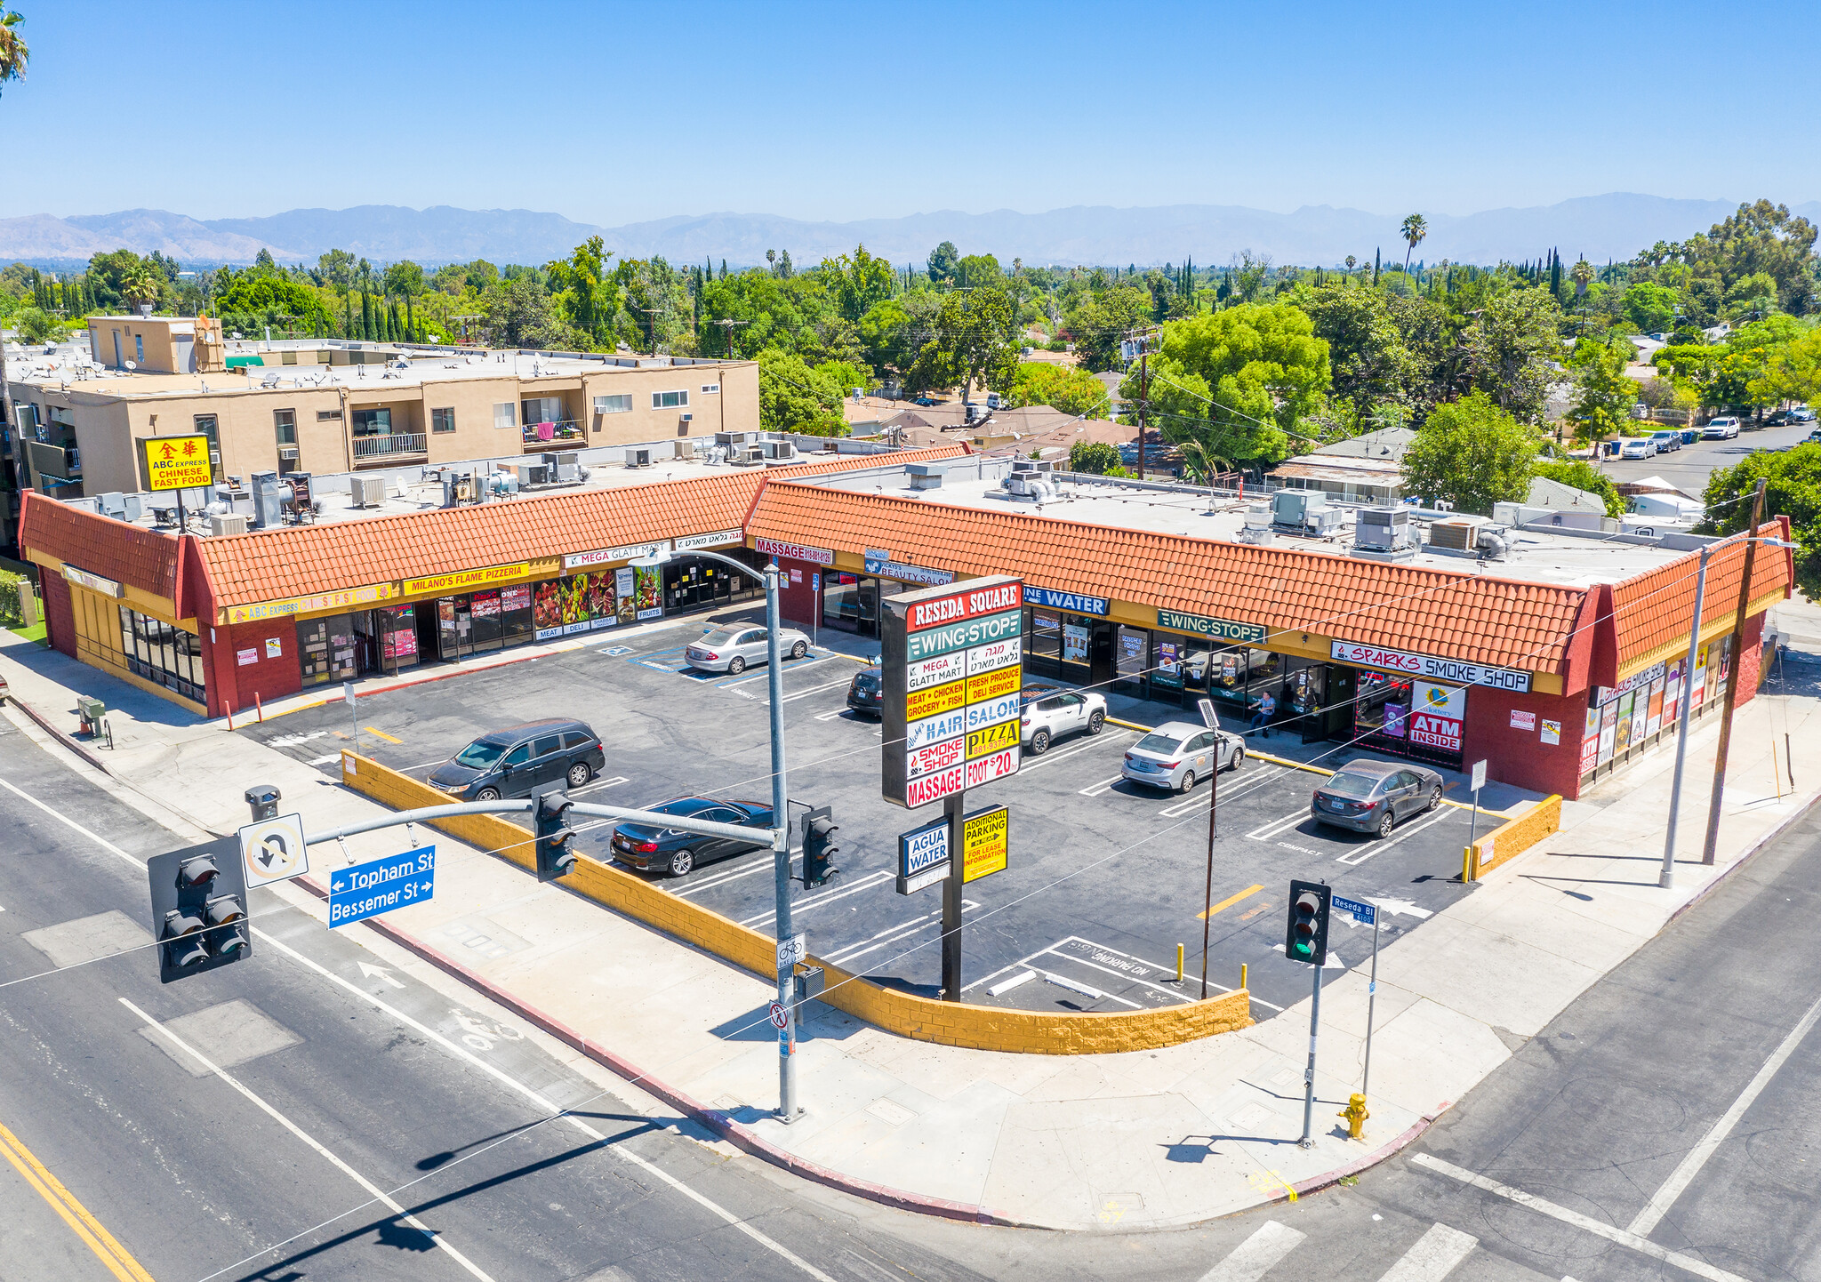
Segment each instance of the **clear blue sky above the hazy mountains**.
[{"label": "clear blue sky above the hazy mountains", "polygon": [[11,4],[0,217],[1821,197],[1812,0]]}]

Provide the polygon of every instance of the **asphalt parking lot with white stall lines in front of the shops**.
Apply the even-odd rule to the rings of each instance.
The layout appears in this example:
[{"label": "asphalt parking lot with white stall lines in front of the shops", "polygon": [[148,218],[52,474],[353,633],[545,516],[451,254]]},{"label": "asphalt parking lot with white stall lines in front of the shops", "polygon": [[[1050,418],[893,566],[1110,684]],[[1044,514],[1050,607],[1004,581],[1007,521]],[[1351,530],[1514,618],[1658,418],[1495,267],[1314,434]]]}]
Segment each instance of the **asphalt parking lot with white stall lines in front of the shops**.
[{"label": "asphalt parking lot with white stall lines in front of the shops", "polygon": [[[424,778],[486,730],[572,716],[588,721],[606,750],[606,770],[572,792],[579,799],[626,807],[692,794],[768,801],[767,672],[690,668],[683,646],[701,626],[683,623],[364,696],[361,750]],[[832,807],[839,876],[812,890],[796,887],[796,929],[823,960],[932,994],[941,971],[941,892],[929,887],[900,896],[894,861],[898,834],[936,818],[940,807],[910,814],[880,798],[880,727],[845,707],[856,659],[876,643],[827,632],[821,643],[785,665],[788,794],[794,818],[807,805]],[[1184,714],[1155,710],[1149,719],[1165,716]],[[348,727],[348,710],[337,701],[242,732],[339,778]],[[1468,810],[1444,805],[1419,814],[1389,839],[1324,829],[1309,819],[1320,776],[1247,758],[1218,781],[1209,896],[1209,787],[1180,796],[1122,781],[1122,754],[1138,734],[1109,723],[1098,736],[1060,739],[1045,756],[1025,756],[1018,776],[969,794],[969,809],[1005,803],[1011,810],[1011,865],[969,883],[963,896],[969,1002],[1127,1011],[1193,1000],[1200,994],[1206,896],[1213,903],[1209,992],[1238,987],[1244,963],[1255,1014],[1266,1016],[1309,989],[1307,967],[1282,954],[1291,878],[1328,881],[1340,894],[1380,903],[1380,943],[1471,892],[1457,881]],[[1322,759],[1329,768],[1355,756],[1338,745],[1302,750],[1295,738],[1247,739],[1249,752],[1291,745],[1304,756],[1329,750]],[[1488,823],[1497,819],[1482,818],[1480,832]],[[577,845],[610,860],[610,825],[599,823],[581,830]],[[768,850],[759,849],[654,880],[756,931],[772,931],[770,867]],[[1178,943],[1185,951],[1180,983]],[[1369,949],[1371,929],[1335,914],[1324,978],[1366,963]]]}]

